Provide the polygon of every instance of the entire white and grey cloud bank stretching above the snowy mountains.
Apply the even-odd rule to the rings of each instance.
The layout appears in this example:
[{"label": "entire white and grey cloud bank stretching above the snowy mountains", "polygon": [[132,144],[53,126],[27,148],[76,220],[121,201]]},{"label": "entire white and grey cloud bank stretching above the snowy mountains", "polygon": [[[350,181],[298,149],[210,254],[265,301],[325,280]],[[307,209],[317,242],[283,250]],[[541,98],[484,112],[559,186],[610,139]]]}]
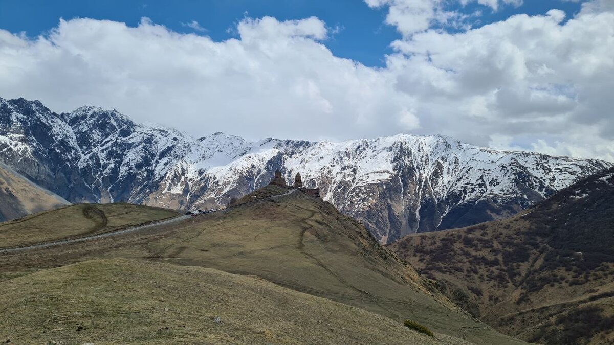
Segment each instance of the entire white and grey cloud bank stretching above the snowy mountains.
[{"label": "entire white and grey cloud bank stretching above the snowy mountains", "polygon": [[614,161],[610,2],[586,2],[573,18],[550,10],[459,33],[433,25],[462,17],[438,0],[366,2],[387,7],[386,23],[402,34],[383,68],[334,56],[315,17],[244,18],[238,37],[222,42],[147,18],[137,27],[77,18],[36,39],[0,29],[0,96],[56,111],[115,108],[193,136],[445,134]]}]

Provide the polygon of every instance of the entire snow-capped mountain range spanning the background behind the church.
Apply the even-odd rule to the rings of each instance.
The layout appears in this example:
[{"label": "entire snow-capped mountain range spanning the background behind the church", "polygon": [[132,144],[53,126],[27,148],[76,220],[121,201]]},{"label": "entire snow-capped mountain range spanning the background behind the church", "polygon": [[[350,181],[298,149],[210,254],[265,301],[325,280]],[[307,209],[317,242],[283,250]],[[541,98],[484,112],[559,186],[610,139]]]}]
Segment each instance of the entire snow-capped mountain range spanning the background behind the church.
[{"label": "entire snow-capped mountain range spanning the background behind the church", "polygon": [[0,160],[71,202],[174,208],[225,204],[280,169],[356,217],[381,242],[513,214],[612,163],[503,152],[443,136],[340,143],[215,133],[194,139],[115,110],[56,114],[0,98]]}]

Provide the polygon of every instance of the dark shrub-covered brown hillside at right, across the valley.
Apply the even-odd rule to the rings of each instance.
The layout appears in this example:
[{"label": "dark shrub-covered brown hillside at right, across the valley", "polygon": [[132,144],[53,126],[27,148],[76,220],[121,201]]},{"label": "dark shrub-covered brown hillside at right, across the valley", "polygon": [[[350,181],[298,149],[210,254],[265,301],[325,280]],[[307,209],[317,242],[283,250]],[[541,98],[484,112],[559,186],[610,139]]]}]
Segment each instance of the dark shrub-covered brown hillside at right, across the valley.
[{"label": "dark shrub-covered brown hillside at right, across the valley", "polygon": [[389,246],[503,333],[614,343],[614,169],[507,220]]}]

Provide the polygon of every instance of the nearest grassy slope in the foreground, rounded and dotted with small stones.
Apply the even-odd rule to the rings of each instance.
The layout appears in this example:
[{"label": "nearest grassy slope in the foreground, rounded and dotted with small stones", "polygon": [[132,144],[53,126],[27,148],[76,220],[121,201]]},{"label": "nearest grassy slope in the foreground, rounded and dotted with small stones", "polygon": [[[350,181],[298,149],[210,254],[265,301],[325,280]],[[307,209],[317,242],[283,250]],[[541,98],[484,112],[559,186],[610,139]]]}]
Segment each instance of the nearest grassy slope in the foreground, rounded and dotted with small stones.
[{"label": "nearest grassy slope in the foreground, rounded and dotted with small stones", "polygon": [[144,260],[49,269],[0,296],[2,343],[462,344],[257,277]]}]

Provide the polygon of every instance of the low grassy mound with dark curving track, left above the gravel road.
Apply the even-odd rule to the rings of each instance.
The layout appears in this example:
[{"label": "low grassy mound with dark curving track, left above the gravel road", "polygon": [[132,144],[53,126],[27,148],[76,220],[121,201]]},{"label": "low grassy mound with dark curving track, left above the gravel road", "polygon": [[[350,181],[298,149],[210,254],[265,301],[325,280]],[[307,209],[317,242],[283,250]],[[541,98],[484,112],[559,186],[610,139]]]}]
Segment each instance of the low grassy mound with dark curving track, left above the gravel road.
[{"label": "low grassy mound with dark curving track, left above the gravel road", "polygon": [[94,235],[174,217],[176,211],[132,204],[78,204],[0,223],[0,247]]}]

